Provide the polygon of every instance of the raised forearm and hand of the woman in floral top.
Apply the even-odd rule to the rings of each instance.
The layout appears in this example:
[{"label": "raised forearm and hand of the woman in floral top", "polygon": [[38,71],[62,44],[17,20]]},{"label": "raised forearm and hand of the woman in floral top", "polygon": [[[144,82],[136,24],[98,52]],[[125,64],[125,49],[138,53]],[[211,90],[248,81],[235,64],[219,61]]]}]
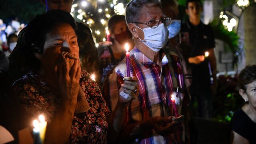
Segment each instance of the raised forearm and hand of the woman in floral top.
[{"label": "raised forearm and hand of the woman in floral top", "polygon": [[62,101],[51,122],[47,125],[45,144],[68,142],[80,86],[81,68],[78,64],[79,62],[76,60],[70,70],[69,64],[58,66],[59,90]]}]

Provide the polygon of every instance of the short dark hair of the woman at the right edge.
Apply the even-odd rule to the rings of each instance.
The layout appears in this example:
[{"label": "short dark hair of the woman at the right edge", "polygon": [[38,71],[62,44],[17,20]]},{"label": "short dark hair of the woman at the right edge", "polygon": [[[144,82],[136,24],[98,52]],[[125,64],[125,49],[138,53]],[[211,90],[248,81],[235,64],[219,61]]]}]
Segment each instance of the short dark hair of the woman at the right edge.
[{"label": "short dark hair of the woman at the right edge", "polygon": [[256,80],[256,65],[246,66],[238,76],[239,88],[246,91],[246,84]]}]

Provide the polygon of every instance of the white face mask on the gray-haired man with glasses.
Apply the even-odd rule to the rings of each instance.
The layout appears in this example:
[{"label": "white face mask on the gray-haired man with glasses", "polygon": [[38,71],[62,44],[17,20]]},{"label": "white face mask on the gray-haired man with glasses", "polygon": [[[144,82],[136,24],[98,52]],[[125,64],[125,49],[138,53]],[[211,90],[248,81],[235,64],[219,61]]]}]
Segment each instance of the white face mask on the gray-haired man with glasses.
[{"label": "white face mask on the gray-haired man with glasses", "polygon": [[[137,28],[139,27],[137,26]],[[150,48],[154,52],[158,52],[168,42],[168,30],[163,23],[159,24],[159,26],[156,28],[143,28],[142,31],[144,32],[144,40],[141,40],[139,38],[140,41],[142,41],[146,46],[148,46],[148,48]]]}]

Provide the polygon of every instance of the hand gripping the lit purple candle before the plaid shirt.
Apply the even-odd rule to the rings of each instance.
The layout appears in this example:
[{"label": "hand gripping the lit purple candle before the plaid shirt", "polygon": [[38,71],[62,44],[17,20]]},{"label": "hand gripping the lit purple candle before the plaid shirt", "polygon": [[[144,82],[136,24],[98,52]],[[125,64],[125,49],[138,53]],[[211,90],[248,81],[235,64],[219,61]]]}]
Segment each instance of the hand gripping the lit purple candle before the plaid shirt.
[{"label": "hand gripping the lit purple candle before the plaid shirt", "polygon": [[[122,93],[128,94],[128,98],[124,98]],[[119,89],[119,99],[120,104],[128,104],[138,96],[138,80],[135,76],[126,77],[124,83],[121,84]]]}]

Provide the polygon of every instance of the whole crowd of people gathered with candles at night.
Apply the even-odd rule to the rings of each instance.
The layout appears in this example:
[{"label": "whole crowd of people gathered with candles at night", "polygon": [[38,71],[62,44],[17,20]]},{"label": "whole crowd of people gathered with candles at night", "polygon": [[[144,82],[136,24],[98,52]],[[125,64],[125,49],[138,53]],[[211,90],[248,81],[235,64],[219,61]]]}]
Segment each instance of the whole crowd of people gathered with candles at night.
[{"label": "whole crowd of people gathered with candles at night", "polygon": [[[200,20],[200,0],[187,0],[184,24],[176,0],[131,0],[125,16],[110,17],[98,49],[90,28],[70,15],[74,0],[41,1],[47,12],[8,34],[0,55],[0,124],[14,143],[40,114],[44,143],[195,142],[192,118],[211,118],[216,93],[214,35]],[[256,126],[255,75],[253,65],[239,76],[246,104],[232,120],[233,143],[254,142],[244,128]]]}]

